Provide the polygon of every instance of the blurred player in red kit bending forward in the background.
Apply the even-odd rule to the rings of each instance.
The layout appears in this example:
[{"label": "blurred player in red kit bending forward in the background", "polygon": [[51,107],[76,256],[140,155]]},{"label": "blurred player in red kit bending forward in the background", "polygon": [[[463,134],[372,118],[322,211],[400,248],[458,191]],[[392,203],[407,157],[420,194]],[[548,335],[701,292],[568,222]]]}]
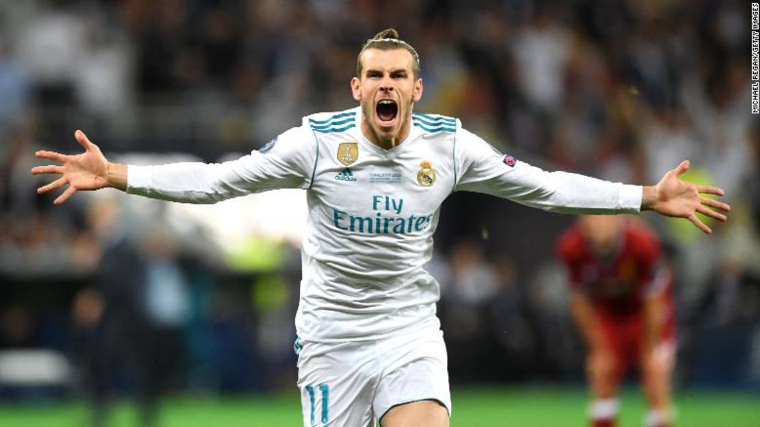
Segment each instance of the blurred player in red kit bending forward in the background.
[{"label": "blurred player in red kit bending forward in the background", "polygon": [[568,270],[572,314],[587,343],[590,425],[616,425],[619,384],[638,365],[650,406],[644,425],[673,427],[673,281],[657,237],[641,221],[584,216],[559,238],[557,253]]}]

